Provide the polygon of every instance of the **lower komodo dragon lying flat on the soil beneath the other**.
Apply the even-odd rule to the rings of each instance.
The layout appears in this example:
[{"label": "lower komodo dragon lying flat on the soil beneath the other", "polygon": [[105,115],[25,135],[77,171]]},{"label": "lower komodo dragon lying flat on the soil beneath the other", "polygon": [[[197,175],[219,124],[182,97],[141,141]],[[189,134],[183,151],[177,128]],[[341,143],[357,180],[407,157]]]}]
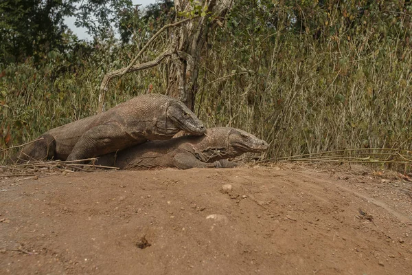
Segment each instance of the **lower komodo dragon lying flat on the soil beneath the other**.
[{"label": "lower komodo dragon lying flat on the soil beneath the other", "polygon": [[237,164],[227,158],[242,153],[266,151],[264,140],[240,129],[218,127],[207,129],[205,135],[185,135],[172,140],[152,141],[117,153],[98,157],[95,164],[121,169],[147,170],[150,168],[176,167],[230,168]]}]

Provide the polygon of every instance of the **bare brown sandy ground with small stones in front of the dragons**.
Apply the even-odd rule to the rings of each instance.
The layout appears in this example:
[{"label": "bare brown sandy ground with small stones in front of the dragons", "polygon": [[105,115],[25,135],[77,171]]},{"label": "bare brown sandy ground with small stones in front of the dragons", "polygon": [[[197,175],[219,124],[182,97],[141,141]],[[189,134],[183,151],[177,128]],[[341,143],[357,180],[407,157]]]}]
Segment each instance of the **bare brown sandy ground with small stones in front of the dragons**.
[{"label": "bare brown sandy ground with small stones in front of the dragons", "polygon": [[389,172],[6,174],[0,274],[412,274],[412,182]]}]

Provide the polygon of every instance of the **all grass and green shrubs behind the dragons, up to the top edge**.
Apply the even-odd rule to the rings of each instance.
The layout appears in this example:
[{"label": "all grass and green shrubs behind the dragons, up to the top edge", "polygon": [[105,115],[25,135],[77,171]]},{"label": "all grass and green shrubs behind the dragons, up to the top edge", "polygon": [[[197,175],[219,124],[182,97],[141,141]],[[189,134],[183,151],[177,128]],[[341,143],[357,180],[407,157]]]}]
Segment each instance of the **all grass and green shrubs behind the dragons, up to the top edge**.
[{"label": "all grass and green shrubs behind the dragons, up to the top edge", "polygon": [[[66,30],[49,43],[58,46],[38,47],[36,54],[21,48],[10,60],[11,50],[3,48],[1,148],[95,114],[104,74],[127,65],[173,20],[172,3],[162,1],[146,14],[119,10],[119,40],[113,32],[93,32],[86,43]],[[141,63],[167,41],[165,32]],[[225,28],[208,38],[195,111],[208,126],[262,137],[271,144],[266,157],[412,150],[411,52],[411,1],[239,0]],[[167,80],[164,65],[117,80],[105,108],[148,91],[162,93]]]}]

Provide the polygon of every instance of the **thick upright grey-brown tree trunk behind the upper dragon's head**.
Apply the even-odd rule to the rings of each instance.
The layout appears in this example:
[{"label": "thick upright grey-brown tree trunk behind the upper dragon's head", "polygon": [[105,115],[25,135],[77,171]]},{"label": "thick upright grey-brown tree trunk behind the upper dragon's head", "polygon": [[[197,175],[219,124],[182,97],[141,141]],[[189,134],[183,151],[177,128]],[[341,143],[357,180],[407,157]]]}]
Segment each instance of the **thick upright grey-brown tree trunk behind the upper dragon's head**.
[{"label": "thick upright grey-brown tree trunk behind the upper dragon's head", "polygon": [[[206,15],[180,25],[172,32],[172,45],[176,47],[171,58],[167,94],[179,98],[192,111],[197,93],[199,61],[207,34],[222,26],[234,0],[203,0]],[[193,10],[189,0],[174,0],[176,21],[179,12]],[[203,14],[204,15],[204,14]]]}]

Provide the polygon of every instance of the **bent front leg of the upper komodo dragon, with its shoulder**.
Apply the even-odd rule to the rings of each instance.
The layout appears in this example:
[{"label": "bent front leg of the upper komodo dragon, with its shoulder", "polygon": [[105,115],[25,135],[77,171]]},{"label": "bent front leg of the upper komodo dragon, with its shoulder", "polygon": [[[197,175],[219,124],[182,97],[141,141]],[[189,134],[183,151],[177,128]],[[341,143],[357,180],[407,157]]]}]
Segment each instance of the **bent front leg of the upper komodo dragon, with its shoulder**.
[{"label": "bent front leg of the upper komodo dragon, with its shoulder", "polygon": [[[146,140],[141,140],[145,142]],[[122,150],[130,144],[139,144],[118,122],[112,121],[91,128],[84,133],[74,145],[68,161],[97,157],[117,150]]]}]

